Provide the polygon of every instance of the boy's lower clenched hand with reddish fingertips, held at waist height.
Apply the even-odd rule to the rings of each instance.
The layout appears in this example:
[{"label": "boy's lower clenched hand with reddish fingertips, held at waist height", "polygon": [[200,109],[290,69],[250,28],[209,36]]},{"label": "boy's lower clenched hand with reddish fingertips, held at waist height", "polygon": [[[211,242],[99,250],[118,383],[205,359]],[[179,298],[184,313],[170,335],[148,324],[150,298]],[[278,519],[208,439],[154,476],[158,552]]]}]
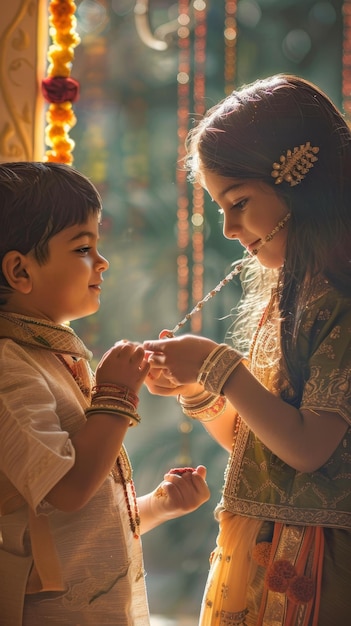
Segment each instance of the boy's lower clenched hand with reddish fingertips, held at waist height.
[{"label": "boy's lower clenched hand with reddish fingertips, held at waist height", "polygon": [[[179,470],[182,472],[182,469]],[[164,480],[151,494],[151,514],[166,521],[195,511],[210,498],[206,483],[206,468],[199,465],[196,469],[164,475]]]}]

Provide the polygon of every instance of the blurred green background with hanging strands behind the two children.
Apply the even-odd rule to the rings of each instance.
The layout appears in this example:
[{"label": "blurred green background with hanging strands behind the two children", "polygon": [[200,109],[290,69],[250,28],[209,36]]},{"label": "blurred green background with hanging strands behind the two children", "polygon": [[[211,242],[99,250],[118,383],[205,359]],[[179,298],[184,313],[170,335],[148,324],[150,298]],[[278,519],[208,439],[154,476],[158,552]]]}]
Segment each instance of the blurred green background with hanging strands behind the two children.
[{"label": "blurred green background with hanging strands behind the two children", "polygon": [[[174,327],[241,257],[240,245],[223,238],[216,208],[181,170],[187,130],[234,87],[277,72],[311,80],[342,109],[350,3],[76,4],[81,44],[72,76],[81,94],[71,131],[74,166],[103,196],[100,250],[110,269],[99,313],[72,326],[96,363],[118,339],[155,338]],[[181,332],[223,341],[239,295],[239,283],[229,283]],[[139,494],[170,467],[208,468],[210,502],[143,540],[155,626],[187,626],[197,622],[227,455],[174,399],[145,389],[140,413],[142,424],[126,441]]]}]

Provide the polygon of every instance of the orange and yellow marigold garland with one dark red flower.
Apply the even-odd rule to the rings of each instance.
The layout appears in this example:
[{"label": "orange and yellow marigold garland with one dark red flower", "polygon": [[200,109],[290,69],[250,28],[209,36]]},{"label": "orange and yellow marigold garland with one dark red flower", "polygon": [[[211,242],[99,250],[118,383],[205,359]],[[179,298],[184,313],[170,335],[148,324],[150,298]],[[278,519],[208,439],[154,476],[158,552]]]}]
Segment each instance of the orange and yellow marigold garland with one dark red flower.
[{"label": "orange and yellow marigold garland with one dark red flower", "polygon": [[79,83],[70,77],[74,48],[80,43],[76,32],[74,0],[51,0],[49,24],[52,45],[48,50],[48,76],[42,81],[44,98],[49,102],[46,114],[46,161],[72,165],[74,141],[69,131],[76,123],[72,103],[79,97]]}]

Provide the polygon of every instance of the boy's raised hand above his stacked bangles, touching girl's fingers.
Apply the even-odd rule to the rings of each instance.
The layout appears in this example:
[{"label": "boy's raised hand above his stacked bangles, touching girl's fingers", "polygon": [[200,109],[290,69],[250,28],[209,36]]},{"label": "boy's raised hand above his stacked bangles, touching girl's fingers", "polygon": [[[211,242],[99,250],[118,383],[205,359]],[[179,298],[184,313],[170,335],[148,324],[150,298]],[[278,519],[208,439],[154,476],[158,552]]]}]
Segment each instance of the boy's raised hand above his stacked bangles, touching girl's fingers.
[{"label": "boy's raised hand above his stacked bangles, touching girl's fingers", "polygon": [[150,369],[140,344],[117,341],[101,358],[95,372],[97,385],[122,385],[138,393]]}]

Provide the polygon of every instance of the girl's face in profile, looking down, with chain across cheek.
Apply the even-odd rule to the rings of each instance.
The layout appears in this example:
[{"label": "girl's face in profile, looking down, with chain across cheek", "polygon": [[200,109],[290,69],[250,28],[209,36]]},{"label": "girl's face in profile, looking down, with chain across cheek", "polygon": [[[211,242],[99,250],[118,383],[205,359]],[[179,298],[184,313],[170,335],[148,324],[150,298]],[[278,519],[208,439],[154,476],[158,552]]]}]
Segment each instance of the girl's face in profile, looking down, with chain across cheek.
[{"label": "girl's face in profile, looking down, with chain across cheek", "polygon": [[[251,252],[287,215],[286,202],[266,183],[257,180],[227,178],[202,170],[204,187],[224,216],[223,234],[238,239]],[[277,232],[257,254],[261,265],[277,269],[284,263],[287,230]]]}]

